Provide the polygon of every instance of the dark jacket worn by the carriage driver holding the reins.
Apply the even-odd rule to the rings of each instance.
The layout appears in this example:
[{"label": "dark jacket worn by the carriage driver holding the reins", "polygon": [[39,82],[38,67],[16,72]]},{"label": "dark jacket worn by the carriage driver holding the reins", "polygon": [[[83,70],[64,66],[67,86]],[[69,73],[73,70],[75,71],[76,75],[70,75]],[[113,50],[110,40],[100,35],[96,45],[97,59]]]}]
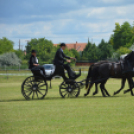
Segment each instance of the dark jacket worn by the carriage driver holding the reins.
[{"label": "dark jacket worn by the carriage driver holding the reins", "polygon": [[55,65],[63,65],[66,61],[65,58],[70,59],[70,57],[66,56],[63,51],[60,49],[57,50],[54,58]]}]

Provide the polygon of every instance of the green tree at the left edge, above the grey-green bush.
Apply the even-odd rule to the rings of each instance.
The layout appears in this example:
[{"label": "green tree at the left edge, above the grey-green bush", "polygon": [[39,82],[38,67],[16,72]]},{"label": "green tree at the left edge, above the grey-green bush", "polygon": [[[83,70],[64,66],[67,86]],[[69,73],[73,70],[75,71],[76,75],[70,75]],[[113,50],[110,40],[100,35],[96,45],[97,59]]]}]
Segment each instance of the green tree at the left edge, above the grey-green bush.
[{"label": "green tree at the left edge, above the grey-green bush", "polygon": [[13,52],[13,45],[14,43],[6,37],[0,39],[0,54]]}]

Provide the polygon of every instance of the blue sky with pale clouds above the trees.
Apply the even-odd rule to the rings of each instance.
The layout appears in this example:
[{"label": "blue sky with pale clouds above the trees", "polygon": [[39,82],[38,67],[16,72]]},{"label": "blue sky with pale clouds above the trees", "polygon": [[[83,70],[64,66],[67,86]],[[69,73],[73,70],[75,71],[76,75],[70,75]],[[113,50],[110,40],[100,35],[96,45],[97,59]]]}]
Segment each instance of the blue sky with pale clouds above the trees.
[{"label": "blue sky with pale clouds above the trees", "polygon": [[134,24],[134,0],[0,0],[0,38],[24,50],[27,41],[108,41],[115,23]]}]

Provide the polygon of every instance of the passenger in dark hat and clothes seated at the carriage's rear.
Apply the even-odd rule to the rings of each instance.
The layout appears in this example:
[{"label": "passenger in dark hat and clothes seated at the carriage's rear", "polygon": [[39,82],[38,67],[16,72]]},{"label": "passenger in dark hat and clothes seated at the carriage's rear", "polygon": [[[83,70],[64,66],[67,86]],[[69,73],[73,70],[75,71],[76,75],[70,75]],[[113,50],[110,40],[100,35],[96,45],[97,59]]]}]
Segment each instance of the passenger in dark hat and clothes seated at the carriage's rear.
[{"label": "passenger in dark hat and clothes seated at the carriage's rear", "polygon": [[45,75],[44,67],[40,66],[38,64],[38,59],[36,57],[36,51],[35,50],[32,50],[32,55],[31,55],[30,60],[29,60],[29,69],[31,69],[31,71],[42,70],[43,75]]}]

